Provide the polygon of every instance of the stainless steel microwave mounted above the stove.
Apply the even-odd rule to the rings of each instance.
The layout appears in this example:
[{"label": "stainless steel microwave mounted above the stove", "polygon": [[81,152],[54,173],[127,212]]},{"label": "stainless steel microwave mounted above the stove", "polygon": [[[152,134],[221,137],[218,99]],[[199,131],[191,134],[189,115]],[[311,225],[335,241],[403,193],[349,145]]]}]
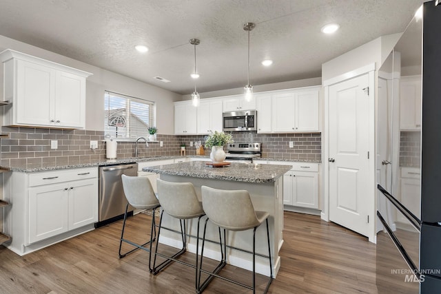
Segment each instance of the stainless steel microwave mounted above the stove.
[{"label": "stainless steel microwave mounted above the stove", "polygon": [[244,110],[239,112],[224,112],[222,114],[223,131],[256,131],[256,110]]}]

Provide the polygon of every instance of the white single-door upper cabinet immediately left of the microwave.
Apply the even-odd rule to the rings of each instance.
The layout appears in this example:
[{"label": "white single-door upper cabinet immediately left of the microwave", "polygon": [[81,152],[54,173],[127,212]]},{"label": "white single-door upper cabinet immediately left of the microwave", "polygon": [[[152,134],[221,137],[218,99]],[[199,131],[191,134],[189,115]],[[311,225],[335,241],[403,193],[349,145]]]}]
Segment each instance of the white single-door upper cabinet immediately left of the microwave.
[{"label": "white single-door upper cabinet immediately left of the microwave", "polygon": [[198,134],[222,132],[222,101],[204,100],[201,100],[197,109]]}]

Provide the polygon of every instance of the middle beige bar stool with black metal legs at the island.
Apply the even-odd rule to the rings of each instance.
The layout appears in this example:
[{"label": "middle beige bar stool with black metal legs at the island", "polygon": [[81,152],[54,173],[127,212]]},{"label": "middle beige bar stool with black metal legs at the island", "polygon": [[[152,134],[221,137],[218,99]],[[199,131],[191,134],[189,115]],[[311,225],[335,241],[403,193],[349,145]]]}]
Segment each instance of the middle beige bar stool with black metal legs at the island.
[{"label": "middle beige bar stool with black metal legs at the island", "polygon": [[[205,212],[202,209],[202,204],[198,200],[198,196],[196,195],[196,191],[194,191],[194,186],[191,182],[166,182],[165,180],[157,179],[156,180],[158,187],[158,200],[161,203],[161,219],[159,220],[159,228],[158,228],[158,240],[159,235],[161,235],[161,225],[163,221],[164,212],[167,213],[172,218],[177,218],[181,225],[181,238],[182,238],[182,248],[180,251],[174,253],[172,256],[166,256],[161,253],[158,253],[158,245],[156,242],[156,249],[154,252],[154,261],[153,261],[153,271],[152,273],[156,275],[159,271],[163,270],[165,266],[170,264],[170,262],[178,262],[180,264],[184,264],[186,266],[190,266],[195,269],[195,287],[196,291],[198,290],[199,284],[199,276],[198,276],[198,248],[199,248],[199,223],[203,216],[205,216]],[[185,220],[189,220],[192,218],[198,218],[198,229],[196,233],[196,263],[189,264],[187,262],[183,262],[178,260],[177,258],[187,251],[187,234],[185,228]],[[220,229],[219,229],[220,234]],[[166,260],[161,262],[156,266],[156,256],[160,256],[161,258],[165,258]]]}]

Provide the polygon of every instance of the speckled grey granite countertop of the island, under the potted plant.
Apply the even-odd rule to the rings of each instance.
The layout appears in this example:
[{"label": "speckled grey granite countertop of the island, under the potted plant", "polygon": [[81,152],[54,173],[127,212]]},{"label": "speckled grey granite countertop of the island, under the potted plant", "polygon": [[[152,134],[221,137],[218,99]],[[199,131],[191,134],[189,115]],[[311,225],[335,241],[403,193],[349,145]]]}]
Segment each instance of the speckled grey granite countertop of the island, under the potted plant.
[{"label": "speckled grey granite countertop of the island, under the potted plant", "polygon": [[174,163],[172,165],[144,167],[143,171],[193,178],[234,180],[238,182],[274,182],[291,169],[291,165],[259,165],[236,163],[224,167],[212,167],[203,161]]}]

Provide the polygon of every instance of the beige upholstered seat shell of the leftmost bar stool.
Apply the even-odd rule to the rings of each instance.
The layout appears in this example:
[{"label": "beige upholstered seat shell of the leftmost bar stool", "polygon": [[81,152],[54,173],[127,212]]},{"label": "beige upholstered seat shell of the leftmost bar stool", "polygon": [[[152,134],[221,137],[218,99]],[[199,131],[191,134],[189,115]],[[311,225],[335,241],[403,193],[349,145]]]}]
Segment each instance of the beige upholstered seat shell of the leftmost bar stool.
[{"label": "beige upholstered seat shell of the leftmost bar stool", "polygon": [[127,202],[134,208],[149,209],[159,204],[147,177],[121,175]]}]

